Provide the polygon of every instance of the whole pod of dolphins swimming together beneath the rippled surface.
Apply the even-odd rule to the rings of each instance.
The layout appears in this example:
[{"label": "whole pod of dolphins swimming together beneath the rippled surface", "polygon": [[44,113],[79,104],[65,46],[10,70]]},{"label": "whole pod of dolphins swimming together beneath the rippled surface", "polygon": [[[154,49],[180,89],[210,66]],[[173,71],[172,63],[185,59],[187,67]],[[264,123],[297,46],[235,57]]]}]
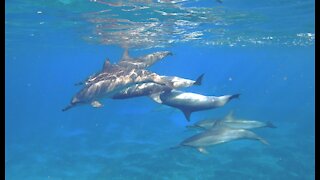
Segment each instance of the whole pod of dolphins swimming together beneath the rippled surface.
[{"label": "whole pod of dolphins swimming together beneath the rippled surface", "polygon": [[[102,107],[100,100],[103,98],[129,99],[148,96],[156,103],[181,110],[189,122],[193,112],[223,107],[232,99],[239,98],[239,93],[208,96],[178,90],[201,85],[204,74],[199,75],[196,79],[186,79],[159,75],[147,70],[158,61],[172,55],[169,51],[160,51],[133,58],[129,56],[128,49],[125,49],[118,63],[112,64],[107,59],[100,71],[76,83],[75,85],[81,85],[82,88],[62,111],[67,111],[80,104],[91,104],[96,108]],[[201,120],[187,127],[204,131],[183,140],[172,149],[192,147],[201,153],[208,153],[205,149],[208,146],[240,139],[258,140],[263,144],[269,144],[251,129],[275,128],[270,122],[234,118],[233,111],[224,118]]]}]

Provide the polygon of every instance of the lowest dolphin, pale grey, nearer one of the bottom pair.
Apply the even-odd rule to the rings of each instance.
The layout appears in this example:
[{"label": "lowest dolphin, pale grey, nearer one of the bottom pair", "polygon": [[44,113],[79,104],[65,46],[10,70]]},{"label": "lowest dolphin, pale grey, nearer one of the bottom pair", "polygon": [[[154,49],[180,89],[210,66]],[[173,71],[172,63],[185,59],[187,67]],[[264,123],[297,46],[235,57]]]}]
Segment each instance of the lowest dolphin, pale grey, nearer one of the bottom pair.
[{"label": "lowest dolphin, pale grey, nearer one of the bottom pair", "polygon": [[259,137],[252,131],[245,129],[234,129],[225,125],[219,125],[202,133],[196,134],[190,138],[187,138],[178,146],[173,147],[172,149],[187,146],[196,148],[201,153],[208,153],[205,149],[205,147],[207,146],[226,143],[239,139],[259,140],[263,144],[269,144],[265,139]]}]

